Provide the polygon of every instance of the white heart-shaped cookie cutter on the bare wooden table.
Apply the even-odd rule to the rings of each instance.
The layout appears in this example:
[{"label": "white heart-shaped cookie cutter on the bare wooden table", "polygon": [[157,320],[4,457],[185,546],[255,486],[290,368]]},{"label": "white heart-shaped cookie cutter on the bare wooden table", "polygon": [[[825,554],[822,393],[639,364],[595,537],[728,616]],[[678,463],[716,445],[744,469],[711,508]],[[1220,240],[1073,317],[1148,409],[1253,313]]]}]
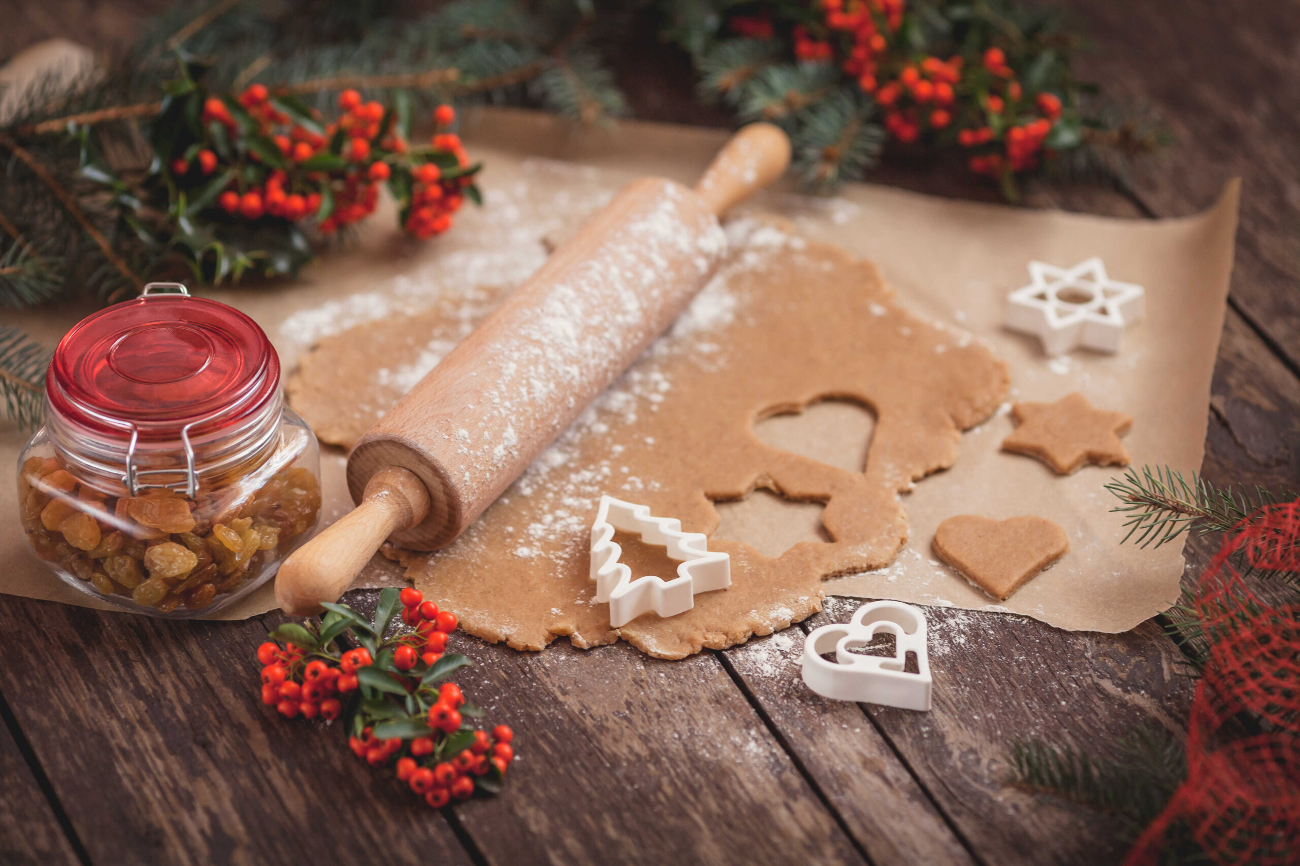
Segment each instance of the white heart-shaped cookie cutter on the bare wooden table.
[{"label": "white heart-shaped cookie cutter on the bare wooden table", "polygon": [[[850,652],[866,647],[878,632],[894,636],[893,656]],[[835,652],[836,661],[822,658]],[[907,653],[916,653],[915,674],[905,670]],[[901,601],[862,605],[846,623],[822,626],[803,641],[803,682],[818,695],[837,701],[883,704],[905,710],[928,710],[933,680],[926,654],[926,614]]]}]

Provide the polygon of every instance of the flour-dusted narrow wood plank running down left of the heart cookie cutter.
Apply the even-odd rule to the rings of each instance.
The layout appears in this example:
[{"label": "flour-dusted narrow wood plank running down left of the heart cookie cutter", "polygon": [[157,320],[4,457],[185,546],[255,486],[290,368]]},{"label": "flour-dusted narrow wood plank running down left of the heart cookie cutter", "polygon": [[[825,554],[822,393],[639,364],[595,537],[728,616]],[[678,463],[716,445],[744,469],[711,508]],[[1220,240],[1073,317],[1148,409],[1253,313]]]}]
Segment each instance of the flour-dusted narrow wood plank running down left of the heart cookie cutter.
[{"label": "flour-dusted narrow wood plank running down left of the heart cookie cutter", "polygon": [[872,863],[974,862],[871,719],[803,684],[802,652],[803,631],[790,628],[722,656]]}]

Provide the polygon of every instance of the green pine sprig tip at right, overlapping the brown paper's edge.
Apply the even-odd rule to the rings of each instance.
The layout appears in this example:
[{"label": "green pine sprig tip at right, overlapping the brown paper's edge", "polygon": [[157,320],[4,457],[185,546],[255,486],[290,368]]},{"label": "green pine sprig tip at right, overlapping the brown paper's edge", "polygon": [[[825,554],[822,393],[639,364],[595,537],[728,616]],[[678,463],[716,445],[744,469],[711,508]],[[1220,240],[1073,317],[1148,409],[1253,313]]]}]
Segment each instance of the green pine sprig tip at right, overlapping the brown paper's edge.
[{"label": "green pine sprig tip at right, overlapping the brown paper's edge", "polygon": [[1128,534],[1121,544],[1136,534],[1140,547],[1160,547],[1191,528],[1202,535],[1226,532],[1262,505],[1295,499],[1294,493],[1279,499],[1261,487],[1253,493],[1214,487],[1196,473],[1188,482],[1167,466],[1143,466],[1141,475],[1130,467],[1105,488],[1124,502],[1110,510],[1130,514],[1124,521]]}]

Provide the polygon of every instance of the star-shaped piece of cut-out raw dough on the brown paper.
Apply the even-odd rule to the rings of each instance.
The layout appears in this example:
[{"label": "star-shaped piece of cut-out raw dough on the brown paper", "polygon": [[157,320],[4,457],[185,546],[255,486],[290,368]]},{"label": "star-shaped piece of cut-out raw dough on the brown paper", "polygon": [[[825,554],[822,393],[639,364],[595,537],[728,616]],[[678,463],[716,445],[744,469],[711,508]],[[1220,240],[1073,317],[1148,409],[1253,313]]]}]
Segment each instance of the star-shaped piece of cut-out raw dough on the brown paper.
[{"label": "star-shaped piece of cut-out raw dough on the brown paper", "polygon": [[1119,438],[1134,419],[1122,412],[1093,409],[1079,392],[1056,402],[1017,402],[1011,417],[1019,426],[1002,440],[1002,451],[1036,457],[1061,475],[1084,464],[1128,465]]}]

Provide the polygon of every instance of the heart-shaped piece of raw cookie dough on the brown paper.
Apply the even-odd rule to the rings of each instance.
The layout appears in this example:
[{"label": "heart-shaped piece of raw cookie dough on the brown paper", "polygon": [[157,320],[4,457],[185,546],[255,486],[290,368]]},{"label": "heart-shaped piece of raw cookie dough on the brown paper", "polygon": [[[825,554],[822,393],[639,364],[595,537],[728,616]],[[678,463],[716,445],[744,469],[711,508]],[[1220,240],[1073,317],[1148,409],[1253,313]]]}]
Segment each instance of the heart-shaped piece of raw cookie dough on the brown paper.
[{"label": "heart-shaped piece of raw cookie dough on the brown paper", "polygon": [[1043,517],[994,521],[958,514],[935,531],[939,558],[1002,601],[1069,549],[1065,530]]}]

